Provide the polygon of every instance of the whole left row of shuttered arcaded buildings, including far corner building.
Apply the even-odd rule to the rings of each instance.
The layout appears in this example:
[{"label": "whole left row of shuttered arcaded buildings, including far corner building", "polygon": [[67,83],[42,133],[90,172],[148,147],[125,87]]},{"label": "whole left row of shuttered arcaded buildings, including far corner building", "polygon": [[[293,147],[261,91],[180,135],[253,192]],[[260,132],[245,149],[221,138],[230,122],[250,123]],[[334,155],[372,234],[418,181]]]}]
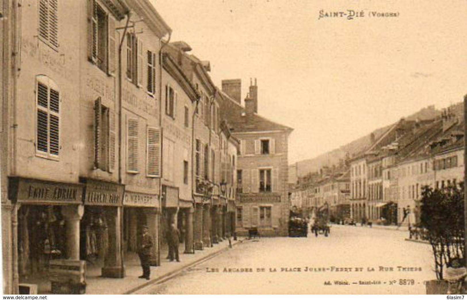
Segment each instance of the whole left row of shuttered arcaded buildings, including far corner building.
[{"label": "whole left row of shuttered arcaded buildings, including far corner building", "polygon": [[4,293],[49,259],[124,278],[143,225],[153,266],[171,224],[185,253],[287,234],[292,129],[258,114],[256,79],[242,106],[149,0],[1,3]]}]

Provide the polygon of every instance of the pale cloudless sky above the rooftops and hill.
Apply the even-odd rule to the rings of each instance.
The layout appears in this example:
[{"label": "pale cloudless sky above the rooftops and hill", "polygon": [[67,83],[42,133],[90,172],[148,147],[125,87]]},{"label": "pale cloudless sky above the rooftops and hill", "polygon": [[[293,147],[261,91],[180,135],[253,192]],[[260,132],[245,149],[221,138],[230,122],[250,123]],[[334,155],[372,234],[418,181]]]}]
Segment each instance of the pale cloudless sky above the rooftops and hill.
[{"label": "pale cloudless sky above the rooftops and hill", "polygon": [[216,85],[241,78],[244,98],[257,78],[258,113],[294,128],[290,164],[467,94],[465,0],[151,2]]}]

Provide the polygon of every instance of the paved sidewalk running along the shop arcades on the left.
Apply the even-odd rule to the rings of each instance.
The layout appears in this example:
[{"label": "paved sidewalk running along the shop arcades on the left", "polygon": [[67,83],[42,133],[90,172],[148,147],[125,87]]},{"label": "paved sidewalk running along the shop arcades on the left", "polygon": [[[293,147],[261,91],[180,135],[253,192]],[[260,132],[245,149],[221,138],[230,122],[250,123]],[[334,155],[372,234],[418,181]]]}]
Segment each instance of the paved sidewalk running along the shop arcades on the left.
[{"label": "paved sidewalk running along the shop arcades on the left", "polygon": [[[237,241],[232,240],[232,245],[235,246],[243,242],[239,238]],[[182,250],[182,247],[180,247]],[[140,279],[138,276],[142,274],[139,259],[136,256],[128,258],[125,262],[126,277],[122,279],[103,278],[100,277],[100,270],[88,270],[86,276],[86,294],[127,294],[132,293],[139,288],[148,286],[159,280],[162,280],[170,275],[177,273],[184,268],[198,263],[201,260],[209,259],[219,252],[229,250],[228,241],[224,240],[219,244],[214,244],[213,247],[205,247],[204,250],[197,250],[194,254],[184,254],[183,250],[180,253],[180,262],[171,262],[165,257],[161,258],[161,266],[151,267],[151,280]]]}]

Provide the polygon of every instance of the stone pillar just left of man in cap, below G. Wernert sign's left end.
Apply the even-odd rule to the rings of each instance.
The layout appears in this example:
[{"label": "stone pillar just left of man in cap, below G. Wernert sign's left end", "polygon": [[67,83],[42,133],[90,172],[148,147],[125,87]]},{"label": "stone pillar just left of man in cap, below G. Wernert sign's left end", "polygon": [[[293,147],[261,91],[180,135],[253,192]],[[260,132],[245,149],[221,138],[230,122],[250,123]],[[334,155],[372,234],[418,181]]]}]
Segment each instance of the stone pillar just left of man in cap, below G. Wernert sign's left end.
[{"label": "stone pillar just left of man in cap, below G. Wernert sign's left end", "polygon": [[102,277],[123,278],[125,267],[121,256],[121,207],[106,207],[108,249],[101,270]]}]

